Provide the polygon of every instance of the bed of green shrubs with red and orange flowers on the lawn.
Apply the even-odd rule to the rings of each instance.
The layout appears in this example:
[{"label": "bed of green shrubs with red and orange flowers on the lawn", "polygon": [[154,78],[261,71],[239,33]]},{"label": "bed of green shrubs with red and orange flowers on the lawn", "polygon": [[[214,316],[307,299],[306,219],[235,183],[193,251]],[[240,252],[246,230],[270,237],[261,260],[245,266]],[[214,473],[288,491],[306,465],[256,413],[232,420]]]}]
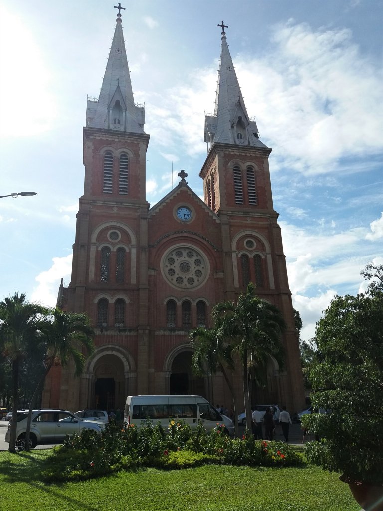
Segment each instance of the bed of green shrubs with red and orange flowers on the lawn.
[{"label": "bed of green shrubs with red and orange flowers on the lawn", "polygon": [[99,434],[82,430],[55,447],[41,475],[45,482],[88,479],[137,467],[177,469],[207,463],[249,466],[292,466],[301,457],[288,444],[255,440],[252,435],[230,439],[224,425],[207,432],[169,421],[168,431],[150,421],[143,427],[121,429],[108,424]]}]

